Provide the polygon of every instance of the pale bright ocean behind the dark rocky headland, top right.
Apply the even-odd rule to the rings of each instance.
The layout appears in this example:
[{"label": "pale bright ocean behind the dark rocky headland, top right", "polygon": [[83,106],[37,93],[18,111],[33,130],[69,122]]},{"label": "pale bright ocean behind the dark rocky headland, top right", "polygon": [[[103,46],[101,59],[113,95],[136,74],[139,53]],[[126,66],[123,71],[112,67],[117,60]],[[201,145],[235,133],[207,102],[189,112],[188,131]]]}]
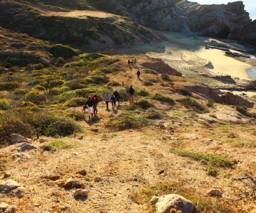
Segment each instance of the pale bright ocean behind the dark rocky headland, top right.
[{"label": "pale bright ocean behind the dark rocky headland, top right", "polygon": [[[237,0],[190,0],[199,4],[227,4]],[[256,19],[256,0],[243,0],[245,10],[249,12],[252,20]]]}]

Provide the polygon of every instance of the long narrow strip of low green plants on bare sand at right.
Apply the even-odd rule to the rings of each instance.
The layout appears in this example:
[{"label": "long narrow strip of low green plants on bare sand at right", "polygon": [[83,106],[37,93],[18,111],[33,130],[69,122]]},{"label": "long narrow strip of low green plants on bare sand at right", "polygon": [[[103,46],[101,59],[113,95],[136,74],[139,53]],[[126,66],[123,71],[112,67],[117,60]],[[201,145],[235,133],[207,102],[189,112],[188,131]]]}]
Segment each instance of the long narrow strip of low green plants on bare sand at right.
[{"label": "long narrow strip of low green plants on bare sand at right", "polygon": [[221,166],[221,167],[231,167],[234,165],[234,162],[230,158],[225,158],[221,155],[201,154],[201,153],[195,153],[192,151],[181,150],[177,148],[170,149],[170,152],[183,157],[193,158],[196,161],[204,160],[209,165]]}]

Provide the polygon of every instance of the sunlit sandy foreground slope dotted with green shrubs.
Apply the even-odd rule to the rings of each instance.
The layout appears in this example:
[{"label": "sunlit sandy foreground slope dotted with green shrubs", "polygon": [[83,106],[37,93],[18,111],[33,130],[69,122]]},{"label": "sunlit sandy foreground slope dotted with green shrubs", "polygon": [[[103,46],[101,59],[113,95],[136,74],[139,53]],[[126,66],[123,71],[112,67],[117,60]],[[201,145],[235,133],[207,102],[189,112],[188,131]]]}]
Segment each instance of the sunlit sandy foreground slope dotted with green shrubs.
[{"label": "sunlit sandy foreground slope dotted with green shrubs", "polygon": [[[6,29],[2,34],[2,49],[21,54],[33,47],[42,52],[35,63],[49,54],[49,67],[2,69],[1,181],[21,187],[2,191],[1,202],[28,213],[153,212],[147,204],[152,196],[175,193],[198,212],[253,210],[253,199],[234,202],[239,181],[233,180],[255,176],[255,109],[212,102],[213,91],[205,94],[207,87],[145,55],[72,49],[77,56],[64,59],[58,49],[55,57],[47,53],[53,46],[41,40]],[[16,38],[26,48],[15,49]],[[137,58],[141,80],[137,69],[128,67],[131,58]],[[127,101],[130,85],[135,104]],[[121,103],[105,109],[103,95],[113,89]],[[99,113],[89,120],[81,109],[94,94],[101,100]],[[10,144],[12,133],[25,141]],[[76,188],[87,190],[87,197],[74,196]],[[211,188],[220,189],[223,198],[208,196]]]}]

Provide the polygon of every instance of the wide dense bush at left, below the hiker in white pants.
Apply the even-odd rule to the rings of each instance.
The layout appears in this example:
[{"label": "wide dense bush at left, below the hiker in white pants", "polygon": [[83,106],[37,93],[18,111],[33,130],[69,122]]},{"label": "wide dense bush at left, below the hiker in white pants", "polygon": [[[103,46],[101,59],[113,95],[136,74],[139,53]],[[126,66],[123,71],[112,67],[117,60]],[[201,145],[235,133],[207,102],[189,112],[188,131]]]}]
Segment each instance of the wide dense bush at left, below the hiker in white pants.
[{"label": "wide dense bush at left, below the hiker in white pants", "polygon": [[67,136],[80,130],[76,121],[55,112],[41,112],[31,115],[27,122],[41,135]]}]

